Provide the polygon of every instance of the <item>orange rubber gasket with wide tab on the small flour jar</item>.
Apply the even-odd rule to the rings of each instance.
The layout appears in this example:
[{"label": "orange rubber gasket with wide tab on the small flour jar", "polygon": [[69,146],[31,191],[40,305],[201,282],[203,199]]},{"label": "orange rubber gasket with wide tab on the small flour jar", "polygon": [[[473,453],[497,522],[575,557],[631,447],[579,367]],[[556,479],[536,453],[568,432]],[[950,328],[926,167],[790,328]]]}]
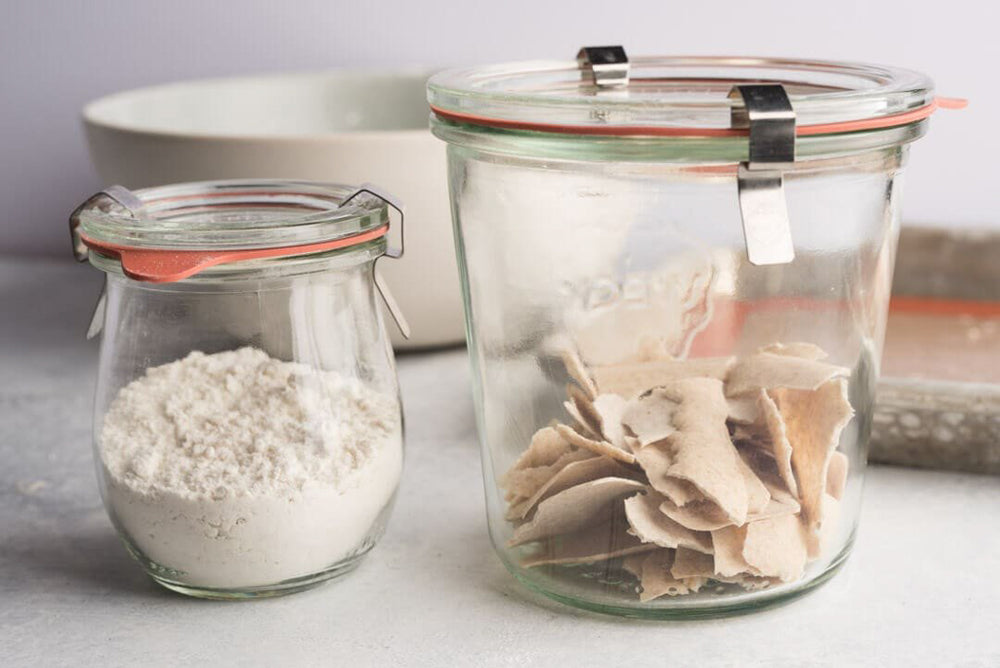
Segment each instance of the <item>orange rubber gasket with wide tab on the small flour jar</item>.
[{"label": "orange rubber gasket with wide tab on the small flour jar", "polygon": [[321,241],[298,246],[278,246],[274,248],[249,248],[226,250],[173,250],[166,248],[134,248],[91,239],[81,234],[80,239],[93,251],[121,262],[122,272],[131,279],[146,283],[173,283],[190,278],[200,271],[220,264],[242,260],[263,260],[267,258],[309,255],[325,251],[357,246],[366,241],[384,237],[389,232],[389,224],[373,230],[341,237],[332,241]]}]

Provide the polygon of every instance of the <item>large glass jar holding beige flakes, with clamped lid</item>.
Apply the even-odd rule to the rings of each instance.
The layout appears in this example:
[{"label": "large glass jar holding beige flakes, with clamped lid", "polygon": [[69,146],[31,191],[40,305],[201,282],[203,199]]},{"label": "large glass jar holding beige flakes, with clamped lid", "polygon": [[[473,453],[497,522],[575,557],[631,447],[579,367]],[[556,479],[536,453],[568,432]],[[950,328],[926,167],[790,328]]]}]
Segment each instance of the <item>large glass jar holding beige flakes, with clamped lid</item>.
[{"label": "large glass jar holding beige flakes, with clamped lid", "polygon": [[854,540],[931,83],[581,55],[429,83],[496,551],[597,611],[787,600]]}]

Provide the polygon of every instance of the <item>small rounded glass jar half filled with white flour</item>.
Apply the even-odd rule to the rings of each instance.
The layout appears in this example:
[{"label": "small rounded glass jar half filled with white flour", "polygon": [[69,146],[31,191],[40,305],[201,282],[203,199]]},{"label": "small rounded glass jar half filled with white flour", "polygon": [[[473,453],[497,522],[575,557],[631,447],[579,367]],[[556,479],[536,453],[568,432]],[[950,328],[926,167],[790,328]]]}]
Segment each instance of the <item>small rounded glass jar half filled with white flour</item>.
[{"label": "small rounded glass jar half filled with white flour", "polygon": [[193,596],[299,591],[382,535],[403,464],[375,262],[386,202],[303,182],[113,188],[74,214],[107,274],[94,445],[131,554]]}]

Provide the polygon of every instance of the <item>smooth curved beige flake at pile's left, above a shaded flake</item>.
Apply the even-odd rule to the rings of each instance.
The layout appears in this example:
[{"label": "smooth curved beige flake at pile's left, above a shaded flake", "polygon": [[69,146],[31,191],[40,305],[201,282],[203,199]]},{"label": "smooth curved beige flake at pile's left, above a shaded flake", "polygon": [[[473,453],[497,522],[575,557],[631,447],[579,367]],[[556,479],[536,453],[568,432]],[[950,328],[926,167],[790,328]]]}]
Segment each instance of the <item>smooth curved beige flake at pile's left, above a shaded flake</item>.
[{"label": "smooth curved beige flake at pile's left, above a shaded flake", "polygon": [[607,521],[615,501],[641,489],[642,483],[627,478],[600,478],[565,489],[539,503],[531,521],[514,530],[509,545],[573,533]]}]

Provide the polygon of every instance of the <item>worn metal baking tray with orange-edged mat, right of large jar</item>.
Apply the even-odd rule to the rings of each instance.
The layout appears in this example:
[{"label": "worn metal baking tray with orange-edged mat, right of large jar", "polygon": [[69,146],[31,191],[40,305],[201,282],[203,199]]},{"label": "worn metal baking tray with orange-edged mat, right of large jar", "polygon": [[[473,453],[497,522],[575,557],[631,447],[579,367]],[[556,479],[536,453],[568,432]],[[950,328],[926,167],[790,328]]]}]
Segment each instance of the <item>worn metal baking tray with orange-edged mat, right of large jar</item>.
[{"label": "worn metal baking tray with orange-edged mat, right of large jar", "polygon": [[1000,230],[900,235],[869,458],[1000,474]]}]

